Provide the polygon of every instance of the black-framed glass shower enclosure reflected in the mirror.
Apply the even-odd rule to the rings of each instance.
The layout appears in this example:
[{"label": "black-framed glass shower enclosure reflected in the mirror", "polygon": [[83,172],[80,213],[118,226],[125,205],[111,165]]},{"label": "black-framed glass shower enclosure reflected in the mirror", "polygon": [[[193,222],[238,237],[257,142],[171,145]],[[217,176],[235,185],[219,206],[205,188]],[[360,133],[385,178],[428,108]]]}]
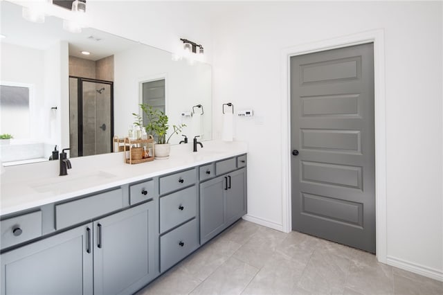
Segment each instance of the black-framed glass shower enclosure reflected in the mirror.
[{"label": "black-framed glass shower enclosure reflected in the mirror", "polygon": [[71,157],[111,152],[114,136],[114,83],[69,77]]}]

